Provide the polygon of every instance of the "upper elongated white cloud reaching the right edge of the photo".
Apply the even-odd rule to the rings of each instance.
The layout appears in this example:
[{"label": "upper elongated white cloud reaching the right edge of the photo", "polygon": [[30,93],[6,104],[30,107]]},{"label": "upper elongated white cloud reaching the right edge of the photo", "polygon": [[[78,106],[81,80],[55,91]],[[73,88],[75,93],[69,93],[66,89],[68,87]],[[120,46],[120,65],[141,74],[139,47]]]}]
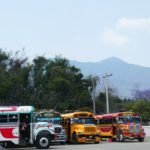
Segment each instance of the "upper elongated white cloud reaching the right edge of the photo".
[{"label": "upper elongated white cloud reaching the right edge of the photo", "polygon": [[147,28],[147,27],[150,27],[150,18],[144,18],[144,19],[122,18],[118,20],[117,27],[119,28]]}]

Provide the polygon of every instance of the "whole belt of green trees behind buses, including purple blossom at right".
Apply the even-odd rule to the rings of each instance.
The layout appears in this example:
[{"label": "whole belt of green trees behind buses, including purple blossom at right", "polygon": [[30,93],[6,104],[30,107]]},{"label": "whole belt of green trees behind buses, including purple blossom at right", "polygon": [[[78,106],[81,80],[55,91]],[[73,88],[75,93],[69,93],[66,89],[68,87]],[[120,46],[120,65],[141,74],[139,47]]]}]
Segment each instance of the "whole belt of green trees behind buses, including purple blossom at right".
[{"label": "whole belt of green trees behind buses, including purple blossom at right", "polygon": [[[39,56],[30,64],[19,52],[12,55],[0,50],[0,74],[1,105],[33,105],[60,112],[92,110],[92,98],[95,98],[96,113],[106,111],[105,93],[96,91],[99,78],[92,75],[84,77],[79,68],[61,56],[54,59]],[[143,99],[140,99],[141,95]],[[148,120],[148,96],[149,90],[136,91],[136,101],[122,100],[114,88],[109,88],[110,112],[125,108]]]}]

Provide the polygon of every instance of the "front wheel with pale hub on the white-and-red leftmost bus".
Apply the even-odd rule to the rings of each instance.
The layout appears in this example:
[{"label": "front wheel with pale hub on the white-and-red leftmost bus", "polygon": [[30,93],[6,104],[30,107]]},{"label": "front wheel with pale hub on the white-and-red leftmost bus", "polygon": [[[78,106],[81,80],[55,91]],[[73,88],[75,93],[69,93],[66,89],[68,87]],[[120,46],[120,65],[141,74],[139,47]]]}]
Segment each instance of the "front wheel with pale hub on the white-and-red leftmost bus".
[{"label": "front wheel with pale hub on the white-and-red leftmost bus", "polygon": [[49,148],[51,143],[50,136],[48,135],[39,135],[36,141],[36,147],[39,149]]}]

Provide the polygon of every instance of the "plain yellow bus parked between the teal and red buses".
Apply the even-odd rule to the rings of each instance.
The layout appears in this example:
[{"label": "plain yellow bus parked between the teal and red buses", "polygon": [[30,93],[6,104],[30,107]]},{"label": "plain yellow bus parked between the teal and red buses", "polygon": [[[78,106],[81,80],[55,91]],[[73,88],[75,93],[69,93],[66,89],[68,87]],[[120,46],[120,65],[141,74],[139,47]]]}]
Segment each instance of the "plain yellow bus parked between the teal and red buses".
[{"label": "plain yellow bus parked between the teal and red buses", "polygon": [[62,126],[66,129],[68,143],[99,143],[101,138],[91,112],[62,114]]}]

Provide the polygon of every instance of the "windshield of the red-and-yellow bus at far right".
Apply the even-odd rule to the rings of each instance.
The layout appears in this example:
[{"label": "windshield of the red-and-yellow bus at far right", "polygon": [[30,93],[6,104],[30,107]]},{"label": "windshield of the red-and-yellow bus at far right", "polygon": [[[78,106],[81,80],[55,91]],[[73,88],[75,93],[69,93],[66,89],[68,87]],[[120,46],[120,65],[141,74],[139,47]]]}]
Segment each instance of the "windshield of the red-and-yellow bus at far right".
[{"label": "windshield of the red-and-yellow bus at far right", "polygon": [[141,118],[137,116],[124,116],[118,118],[118,123],[128,123],[128,122],[141,123]]}]

